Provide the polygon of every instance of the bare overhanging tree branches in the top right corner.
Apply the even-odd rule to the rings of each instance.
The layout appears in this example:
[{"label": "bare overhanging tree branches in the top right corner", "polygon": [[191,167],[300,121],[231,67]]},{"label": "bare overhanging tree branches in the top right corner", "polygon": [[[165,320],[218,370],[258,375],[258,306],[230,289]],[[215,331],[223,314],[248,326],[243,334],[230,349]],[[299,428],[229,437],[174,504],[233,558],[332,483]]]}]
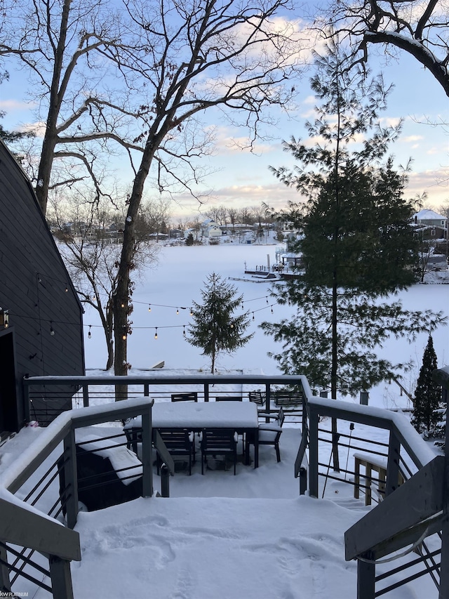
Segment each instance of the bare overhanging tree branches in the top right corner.
[{"label": "bare overhanging tree branches in the top right corner", "polygon": [[382,44],[386,53],[401,49],[420,62],[449,96],[449,9],[438,0],[347,0],[330,6],[319,27],[331,25],[346,34],[352,59],[368,60],[368,46]]}]

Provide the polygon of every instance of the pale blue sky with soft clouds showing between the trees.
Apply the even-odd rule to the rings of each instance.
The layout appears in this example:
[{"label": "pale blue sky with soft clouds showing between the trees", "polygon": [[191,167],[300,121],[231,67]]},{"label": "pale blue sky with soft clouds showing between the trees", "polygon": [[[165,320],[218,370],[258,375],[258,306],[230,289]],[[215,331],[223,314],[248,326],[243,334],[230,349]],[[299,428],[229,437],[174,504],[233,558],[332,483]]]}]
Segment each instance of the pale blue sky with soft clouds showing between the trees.
[{"label": "pale blue sky with soft clouds showing between the trees", "polygon": [[[449,201],[448,98],[434,77],[407,53],[400,52],[397,58],[386,62],[384,55],[374,48],[371,57],[373,74],[382,70],[386,83],[395,86],[387,111],[382,114],[384,123],[404,119],[401,137],[391,145],[390,153],[395,157],[395,166],[413,160],[406,195],[413,198],[426,193],[425,207],[438,209]],[[0,85],[0,110],[7,113],[2,123],[6,129],[21,129],[33,122],[32,106],[27,103],[27,81],[22,72],[11,67],[8,70],[9,81]],[[227,124],[217,110],[206,111],[203,125],[215,129],[215,151],[213,156],[202,159],[201,166],[211,174],[195,191],[207,197],[207,204],[200,206],[196,199],[179,195],[173,203],[173,220],[191,217],[199,211],[204,213],[213,205],[239,208],[265,202],[280,209],[289,200],[297,201],[297,192],[279,183],[269,166],[294,164],[283,152],[282,142],[291,136],[302,139],[306,136],[304,121],[311,117],[314,106],[309,88],[311,74],[309,71],[293,82],[297,90],[296,109],[288,115],[276,114],[275,126],[264,131],[267,138],[257,141],[253,154],[237,149],[234,144],[245,139],[248,131]],[[114,169],[121,183],[130,183],[132,175],[123,162],[117,162]],[[149,183],[147,193],[151,195]]]}]

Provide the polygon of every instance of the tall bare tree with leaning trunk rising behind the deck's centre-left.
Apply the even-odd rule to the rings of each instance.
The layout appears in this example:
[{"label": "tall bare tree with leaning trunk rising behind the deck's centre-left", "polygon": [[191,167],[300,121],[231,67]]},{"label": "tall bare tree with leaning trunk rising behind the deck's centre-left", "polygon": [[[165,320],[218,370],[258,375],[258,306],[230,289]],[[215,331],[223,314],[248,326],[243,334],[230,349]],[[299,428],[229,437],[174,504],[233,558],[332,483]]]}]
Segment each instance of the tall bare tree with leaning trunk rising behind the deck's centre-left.
[{"label": "tall bare tree with leaning trunk rising behind the deck's centre-left", "polygon": [[[127,4],[142,51],[128,57],[128,68],[139,68],[147,79],[145,144],[128,203],[123,246],[114,294],[115,373],[126,374],[130,272],[133,269],[135,222],[145,180],[156,166],[158,180],[168,173],[170,158],[191,164],[203,147],[189,137],[191,124],[205,110],[243,115],[243,123],[257,136],[265,106],[286,106],[293,89],[300,46],[295,30],[284,19],[285,0],[229,0],[201,4],[185,0],[175,4]],[[142,112],[144,110],[142,109]],[[180,134],[182,147],[180,151]],[[173,145],[177,142],[176,150]],[[175,176],[174,171],[170,171]],[[125,309],[122,306],[125,306]]]}]

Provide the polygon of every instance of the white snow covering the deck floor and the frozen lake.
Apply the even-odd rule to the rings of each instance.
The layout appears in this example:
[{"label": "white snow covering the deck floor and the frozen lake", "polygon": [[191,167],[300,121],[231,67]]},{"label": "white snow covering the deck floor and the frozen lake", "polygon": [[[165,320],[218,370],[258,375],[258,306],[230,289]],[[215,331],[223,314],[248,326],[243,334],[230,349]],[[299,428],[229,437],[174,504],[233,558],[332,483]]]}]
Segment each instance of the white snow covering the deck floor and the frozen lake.
[{"label": "white snow covering the deck floor and the frozen lake", "polygon": [[[266,264],[267,254],[271,254],[273,263],[274,246],[164,248],[159,268],[142,275],[133,296],[134,330],[128,350],[136,373],[161,360],[166,369],[207,372],[208,361],[182,334],[189,322],[187,308],[192,299],[200,299],[201,282],[210,272],[239,278],[245,263],[248,268]],[[244,294],[245,308],[254,311],[255,336],[239,352],[223,356],[219,369],[279,374],[276,363],[267,357],[273,341],[257,329],[257,324],[280,319],[288,308],[275,306],[271,313],[266,283],[234,283]],[[400,296],[407,307],[449,312],[448,285],[416,285]],[[106,360],[105,341],[101,329],[96,328],[93,312],[86,312],[84,324],[86,365],[100,369]],[[403,379],[411,392],[426,343],[427,336],[422,335],[411,344],[391,341],[382,350],[387,357],[415,361],[415,369]],[[448,329],[441,327],[434,332],[434,345],[438,365],[448,364]],[[358,398],[349,401],[358,402]],[[371,390],[369,401],[379,407],[410,407],[408,398],[394,383]],[[0,475],[41,432],[39,428],[25,428],[0,447]],[[355,433],[379,441],[387,438],[382,431],[362,426],[356,426]],[[170,499],[137,499],[104,511],[80,513],[76,529],[81,535],[82,561],[72,562],[75,597],[355,598],[356,563],[344,561],[343,535],[369,508],[353,499],[352,487],[342,482],[328,482],[324,499],[300,497],[299,483],[293,476],[299,442],[300,430],[286,423],[280,463],[276,462],[273,447],[260,448],[260,468],[239,463],[236,476],[232,470],[220,469],[208,470],[202,476],[201,465],[196,463],[192,476],[179,472],[170,480]],[[327,462],[327,456],[321,456],[323,461]],[[347,460],[352,461],[351,454],[343,452],[340,461]],[[156,489],[158,485],[159,479],[155,478]],[[25,492],[20,489],[19,496]],[[20,583],[15,591],[28,591],[36,599],[49,596],[42,590],[35,592],[28,583]],[[437,593],[428,577],[422,577],[388,596],[430,599]]]}]

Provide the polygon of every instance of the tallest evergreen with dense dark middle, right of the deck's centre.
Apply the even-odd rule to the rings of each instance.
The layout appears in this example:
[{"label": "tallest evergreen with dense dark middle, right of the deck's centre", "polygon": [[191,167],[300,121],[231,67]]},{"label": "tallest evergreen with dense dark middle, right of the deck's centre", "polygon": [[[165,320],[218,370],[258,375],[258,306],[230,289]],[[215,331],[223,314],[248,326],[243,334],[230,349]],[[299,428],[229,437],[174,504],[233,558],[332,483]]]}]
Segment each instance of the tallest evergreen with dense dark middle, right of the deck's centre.
[{"label": "tallest evergreen with dense dark middle, right of the deck's centre", "polygon": [[[400,130],[380,126],[388,90],[380,77],[368,81],[363,72],[348,72],[344,60],[336,46],[317,60],[311,86],[321,106],[307,129],[319,142],[293,138],[285,148],[295,169],[272,169],[307,198],[304,209],[292,204],[286,215],[303,231],[295,250],[304,270],[274,291],[279,303],[296,306],[294,320],[262,324],[283,343],[273,355],[283,372],[305,374],[330,388],[334,399],[337,390],[356,395],[405,367],[377,356],[386,338],[412,341],[443,322],[441,313],[382,301],[414,281],[413,206],[402,197],[405,175],[391,159],[382,164]],[[355,138],[364,141],[357,146]]]}]

